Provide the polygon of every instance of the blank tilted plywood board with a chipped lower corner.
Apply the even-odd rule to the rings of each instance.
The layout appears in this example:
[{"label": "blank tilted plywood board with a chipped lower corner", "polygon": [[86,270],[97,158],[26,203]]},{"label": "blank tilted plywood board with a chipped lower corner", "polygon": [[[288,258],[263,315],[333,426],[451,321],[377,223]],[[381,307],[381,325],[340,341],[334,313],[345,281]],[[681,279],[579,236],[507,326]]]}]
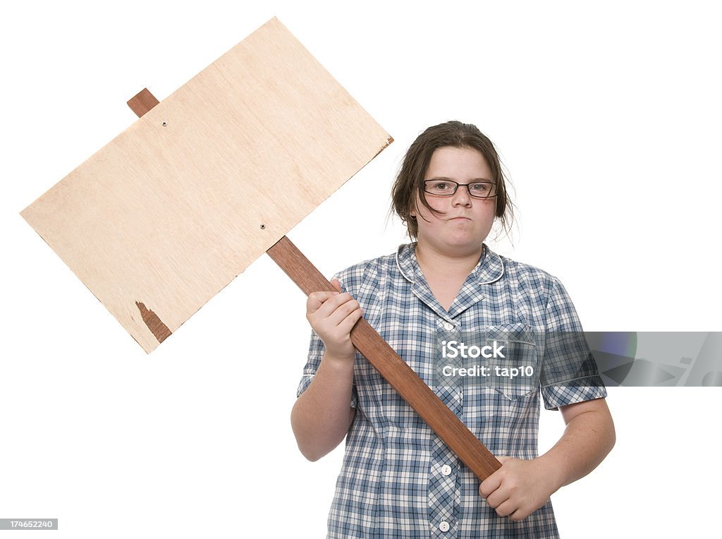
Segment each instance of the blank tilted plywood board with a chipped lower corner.
[{"label": "blank tilted plywood board with a chipped lower corner", "polygon": [[149,352],[389,142],[273,19],[22,216]]}]

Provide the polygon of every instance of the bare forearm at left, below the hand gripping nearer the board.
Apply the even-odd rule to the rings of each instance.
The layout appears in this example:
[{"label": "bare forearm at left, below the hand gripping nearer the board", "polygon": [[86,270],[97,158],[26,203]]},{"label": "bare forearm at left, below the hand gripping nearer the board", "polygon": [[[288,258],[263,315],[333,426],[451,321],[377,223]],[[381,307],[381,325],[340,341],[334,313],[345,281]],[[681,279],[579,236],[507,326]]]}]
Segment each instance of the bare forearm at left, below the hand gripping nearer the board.
[{"label": "bare forearm at left, below the hand gripping nearer the board", "polygon": [[349,430],[355,413],[350,407],[353,367],[353,361],[324,355],[313,381],[293,406],[293,434],[308,460],[331,452]]}]

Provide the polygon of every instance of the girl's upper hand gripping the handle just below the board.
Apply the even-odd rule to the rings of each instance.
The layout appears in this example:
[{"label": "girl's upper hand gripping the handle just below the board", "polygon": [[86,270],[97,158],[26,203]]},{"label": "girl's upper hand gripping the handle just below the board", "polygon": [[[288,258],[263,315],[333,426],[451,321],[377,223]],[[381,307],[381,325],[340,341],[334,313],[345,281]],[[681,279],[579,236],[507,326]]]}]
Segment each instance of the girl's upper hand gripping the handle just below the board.
[{"label": "girl's upper hand gripping the handle just below the board", "polygon": [[356,349],[349,334],[362,316],[361,306],[351,294],[341,292],[339,280],[332,280],[331,285],[339,291],[308,296],[306,319],[326,346],[324,357],[353,361]]}]

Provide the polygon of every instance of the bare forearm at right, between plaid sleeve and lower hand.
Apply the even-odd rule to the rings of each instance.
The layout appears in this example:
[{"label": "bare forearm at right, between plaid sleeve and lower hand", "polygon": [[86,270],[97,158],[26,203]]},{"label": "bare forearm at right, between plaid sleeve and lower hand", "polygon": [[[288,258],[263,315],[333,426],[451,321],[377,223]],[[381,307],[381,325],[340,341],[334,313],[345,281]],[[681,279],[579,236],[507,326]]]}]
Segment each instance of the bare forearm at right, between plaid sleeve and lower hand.
[{"label": "bare forearm at right, between plaid sleeve and lower hand", "polygon": [[539,464],[552,478],[554,491],[590,473],[614,447],[612,416],[606,402],[600,401],[593,410],[571,418],[557,444],[539,457]]}]

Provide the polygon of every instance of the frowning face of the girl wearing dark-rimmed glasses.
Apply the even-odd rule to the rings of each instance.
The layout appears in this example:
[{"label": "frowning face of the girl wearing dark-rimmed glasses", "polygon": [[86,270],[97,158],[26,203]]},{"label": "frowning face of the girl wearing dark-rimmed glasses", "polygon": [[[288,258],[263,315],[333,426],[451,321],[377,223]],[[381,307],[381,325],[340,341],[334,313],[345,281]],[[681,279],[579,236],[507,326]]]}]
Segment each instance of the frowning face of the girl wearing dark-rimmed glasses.
[{"label": "frowning face of the girl wearing dark-rimmed glasses", "polygon": [[[479,150],[444,146],[432,154],[424,179],[470,184],[492,181],[492,171]],[[417,217],[419,247],[446,256],[469,256],[480,252],[482,242],[494,223],[496,199],[471,197],[464,186],[458,186],[451,197],[425,195],[432,208],[444,213],[430,212],[417,194],[415,207],[410,213]]]}]

